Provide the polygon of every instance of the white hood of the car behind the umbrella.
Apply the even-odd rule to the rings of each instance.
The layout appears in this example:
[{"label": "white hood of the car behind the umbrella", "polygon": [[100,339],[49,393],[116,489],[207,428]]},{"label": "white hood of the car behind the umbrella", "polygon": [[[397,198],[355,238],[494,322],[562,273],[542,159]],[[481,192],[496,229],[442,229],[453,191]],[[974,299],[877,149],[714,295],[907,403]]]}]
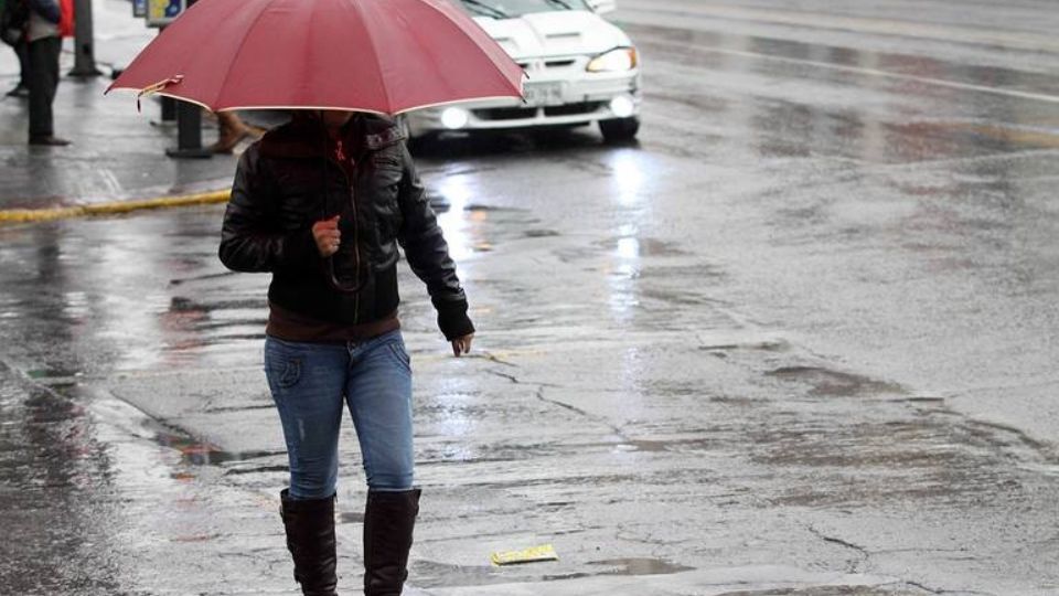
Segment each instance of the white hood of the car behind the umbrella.
[{"label": "white hood of the car behind the umbrella", "polygon": [[475,17],[513,58],[598,54],[631,45],[629,36],[593,12],[536,12],[517,19]]}]

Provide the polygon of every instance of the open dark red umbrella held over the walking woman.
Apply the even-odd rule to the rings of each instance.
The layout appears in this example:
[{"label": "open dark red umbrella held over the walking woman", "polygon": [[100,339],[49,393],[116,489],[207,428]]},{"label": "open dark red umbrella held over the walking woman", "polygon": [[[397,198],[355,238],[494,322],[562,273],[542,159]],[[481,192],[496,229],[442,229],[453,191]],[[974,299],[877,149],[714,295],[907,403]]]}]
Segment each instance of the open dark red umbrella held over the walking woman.
[{"label": "open dark red umbrella held over the walking woman", "polygon": [[447,0],[200,0],[107,89],[214,111],[398,114],[521,97],[524,73]]}]

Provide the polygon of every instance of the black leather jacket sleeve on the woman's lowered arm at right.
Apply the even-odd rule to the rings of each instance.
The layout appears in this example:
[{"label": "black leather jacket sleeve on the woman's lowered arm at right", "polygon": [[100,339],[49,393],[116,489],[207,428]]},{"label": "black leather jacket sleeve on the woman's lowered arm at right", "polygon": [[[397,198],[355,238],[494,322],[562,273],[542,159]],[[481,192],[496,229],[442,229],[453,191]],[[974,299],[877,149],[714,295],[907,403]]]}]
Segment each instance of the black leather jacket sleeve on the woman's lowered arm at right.
[{"label": "black leather jacket sleeve on the woman's lowered arm at right", "polygon": [[404,145],[402,150],[405,172],[398,201],[404,224],[397,240],[411,270],[427,285],[430,301],[438,311],[438,327],[451,341],[473,333],[474,324],[467,316],[467,296],[456,275],[456,263],[449,256],[449,245],[416,173],[411,155]]}]

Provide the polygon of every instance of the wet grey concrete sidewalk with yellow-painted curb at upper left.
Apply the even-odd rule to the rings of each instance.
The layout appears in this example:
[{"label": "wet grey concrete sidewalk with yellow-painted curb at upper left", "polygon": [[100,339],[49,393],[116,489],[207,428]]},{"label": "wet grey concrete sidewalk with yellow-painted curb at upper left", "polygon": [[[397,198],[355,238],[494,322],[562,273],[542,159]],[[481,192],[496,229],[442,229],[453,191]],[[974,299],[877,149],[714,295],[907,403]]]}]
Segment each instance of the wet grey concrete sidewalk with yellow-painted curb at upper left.
[{"label": "wet grey concrete sidewalk with yellow-painted curb at upper left", "polygon": [[[24,98],[0,100],[0,210],[55,209],[113,201],[180,195],[228,188],[236,158],[175,160],[165,149],[176,145],[176,128],[161,125],[156,99],[142,102],[127,92],[104,96],[113,68],[125,66],[151,39],[154,30],[132,17],[127,0],[94,0],[95,53],[103,76],[64,76],[55,98],[55,134],[73,145],[39,148],[26,145],[29,104]],[[65,40],[62,72],[73,66],[73,40]],[[0,52],[0,91],[19,78],[14,52]],[[216,125],[205,120],[203,143],[216,138]]]}]

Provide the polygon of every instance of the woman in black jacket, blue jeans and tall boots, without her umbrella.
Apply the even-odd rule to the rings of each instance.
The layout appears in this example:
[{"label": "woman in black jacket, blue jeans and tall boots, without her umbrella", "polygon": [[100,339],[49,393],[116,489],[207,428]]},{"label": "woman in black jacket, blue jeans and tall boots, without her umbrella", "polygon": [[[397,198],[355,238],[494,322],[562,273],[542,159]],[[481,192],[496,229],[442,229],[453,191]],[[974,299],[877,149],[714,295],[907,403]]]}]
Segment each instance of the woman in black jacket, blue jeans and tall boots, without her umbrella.
[{"label": "woman in black jacket, blue jeans and tall boots, without her umbrella", "polygon": [[367,481],[364,594],[397,596],[419,510],[411,370],[397,319],[397,244],[454,355],[474,327],[448,245],[391,119],[296,110],[235,174],[221,260],[272,274],[265,371],[290,461],[280,494],[295,578],[335,594],[334,499],[343,405]]}]

